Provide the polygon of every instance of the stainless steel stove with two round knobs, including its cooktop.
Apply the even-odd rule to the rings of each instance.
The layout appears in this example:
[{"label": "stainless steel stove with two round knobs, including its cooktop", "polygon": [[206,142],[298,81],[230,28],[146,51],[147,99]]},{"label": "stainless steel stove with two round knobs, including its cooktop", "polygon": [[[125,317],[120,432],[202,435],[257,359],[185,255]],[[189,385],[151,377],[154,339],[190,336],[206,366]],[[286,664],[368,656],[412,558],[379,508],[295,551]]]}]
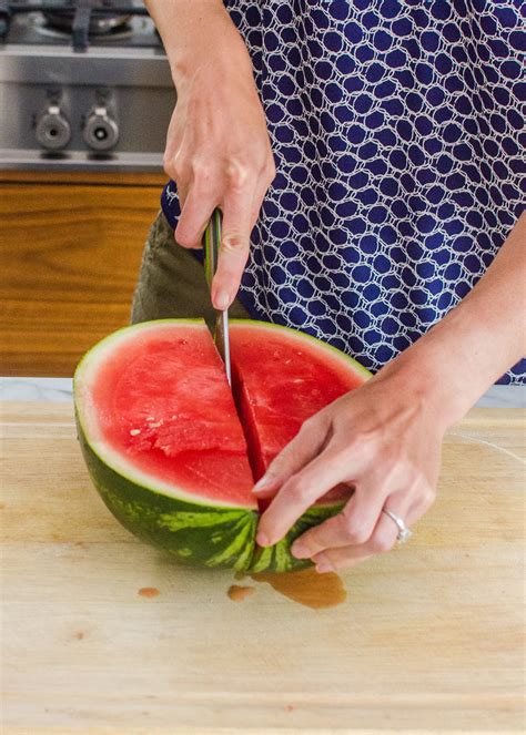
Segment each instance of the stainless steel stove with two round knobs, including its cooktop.
[{"label": "stainless steel stove with two round knobs, including its cooktop", "polygon": [[175,92],[142,2],[0,2],[0,167],[160,171]]}]

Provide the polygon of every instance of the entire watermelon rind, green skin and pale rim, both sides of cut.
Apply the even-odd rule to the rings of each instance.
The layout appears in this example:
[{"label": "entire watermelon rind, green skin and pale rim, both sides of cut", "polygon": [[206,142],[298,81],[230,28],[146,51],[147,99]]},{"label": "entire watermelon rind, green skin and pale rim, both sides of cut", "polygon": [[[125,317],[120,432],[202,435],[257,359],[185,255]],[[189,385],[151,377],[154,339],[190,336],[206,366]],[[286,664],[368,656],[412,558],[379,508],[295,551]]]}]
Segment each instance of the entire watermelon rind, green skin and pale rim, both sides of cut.
[{"label": "entire watermelon rind, green skin and pale rim, both sides of cut", "polygon": [[[161,323],[171,325],[201,325],[202,319],[156,319],[122,327],[92,347],[79,363],[73,378],[75,422],[78,438],[88,471],[103,502],[119,522],[135,537],[190,565],[234,569],[243,572],[293,572],[313,566],[308,559],[295,559],[290,548],[308,529],[336,515],[344,503],[314,506],[292,527],[286,537],[273,547],[260,548],[255,542],[259,512],[243,507],[214,504],[204,498],[189,502],[162,489],[139,483],[122,470],[112,468],[90,445],[80,409],[82,375],[89,361],[97,357],[122,333],[140,330]],[[232,319],[232,324],[257,329],[277,329],[295,335],[300,343],[314,344],[338,358],[347,368],[368,379],[371,372],[352,357],[325,343],[281,325]]]}]

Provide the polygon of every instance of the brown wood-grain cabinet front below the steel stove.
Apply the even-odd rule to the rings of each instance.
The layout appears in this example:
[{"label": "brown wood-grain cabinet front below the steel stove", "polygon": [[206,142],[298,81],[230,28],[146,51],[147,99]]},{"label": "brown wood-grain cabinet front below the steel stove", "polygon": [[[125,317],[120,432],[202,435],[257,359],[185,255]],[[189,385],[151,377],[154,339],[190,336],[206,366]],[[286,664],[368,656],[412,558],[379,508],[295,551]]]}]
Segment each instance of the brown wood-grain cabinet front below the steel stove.
[{"label": "brown wood-grain cabinet front below the steel stove", "polygon": [[164,181],[0,172],[0,375],[69,377],[129,324]]}]

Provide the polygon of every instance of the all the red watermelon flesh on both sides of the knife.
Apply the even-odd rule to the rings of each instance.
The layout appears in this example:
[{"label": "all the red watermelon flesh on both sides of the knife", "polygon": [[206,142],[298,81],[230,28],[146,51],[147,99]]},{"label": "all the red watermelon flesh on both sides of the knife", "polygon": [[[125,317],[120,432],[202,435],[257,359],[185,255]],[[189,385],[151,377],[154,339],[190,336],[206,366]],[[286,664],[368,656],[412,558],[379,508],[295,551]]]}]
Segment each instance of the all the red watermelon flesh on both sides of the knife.
[{"label": "all the red watermelon flesh on both sides of the knife", "polygon": [[[78,380],[93,407],[91,445],[99,439],[124,470],[194,501],[256,509],[254,479],[306,418],[364,381],[327,345],[241,321],[231,327],[232,395],[204,323],[131,329],[95,347]],[[347,496],[336,489],[331,501]]]}]

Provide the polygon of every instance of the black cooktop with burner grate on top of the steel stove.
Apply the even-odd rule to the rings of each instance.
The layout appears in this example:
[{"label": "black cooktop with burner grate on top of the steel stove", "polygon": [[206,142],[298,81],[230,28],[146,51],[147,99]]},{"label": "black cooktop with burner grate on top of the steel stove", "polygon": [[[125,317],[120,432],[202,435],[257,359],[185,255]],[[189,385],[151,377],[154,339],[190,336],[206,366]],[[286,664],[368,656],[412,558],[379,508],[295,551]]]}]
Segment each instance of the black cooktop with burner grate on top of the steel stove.
[{"label": "black cooktop with burner grate on top of the steel stove", "polygon": [[139,0],[0,0],[0,42],[162,48]]}]

